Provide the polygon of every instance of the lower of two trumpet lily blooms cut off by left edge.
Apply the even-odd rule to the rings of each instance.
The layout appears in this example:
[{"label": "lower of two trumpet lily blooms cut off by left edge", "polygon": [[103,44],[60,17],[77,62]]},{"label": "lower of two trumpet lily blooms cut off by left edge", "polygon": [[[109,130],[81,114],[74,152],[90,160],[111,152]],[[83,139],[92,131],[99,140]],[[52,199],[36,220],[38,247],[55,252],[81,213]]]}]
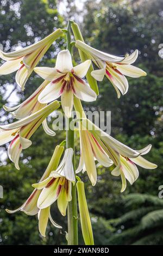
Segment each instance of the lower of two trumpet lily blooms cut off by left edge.
[{"label": "lower of two trumpet lily blooms cut off by left edge", "polygon": [[10,160],[15,163],[17,169],[19,169],[18,160],[22,149],[27,149],[32,144],[29,138],[42,124],[43,120],[45,120],[55,109],[59,108],[59,106],[60,103],[54,101],[39,111],[26,118],[18,120],[15,123],[0,125],[0,145],[11,141],[8,147],[8,156]]}]

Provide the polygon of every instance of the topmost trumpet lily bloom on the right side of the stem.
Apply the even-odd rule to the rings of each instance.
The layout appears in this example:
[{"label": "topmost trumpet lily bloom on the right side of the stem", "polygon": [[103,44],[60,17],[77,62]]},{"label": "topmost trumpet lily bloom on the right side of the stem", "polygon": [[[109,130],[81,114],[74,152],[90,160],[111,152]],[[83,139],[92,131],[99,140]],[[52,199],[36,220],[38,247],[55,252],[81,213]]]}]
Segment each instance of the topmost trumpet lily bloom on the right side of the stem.
[{"label": "topmost trumpet lily bloom on the right side of the stem", "polygon": [[87,54],[87,56],[98,66],[99,70],[94,70],[91,75],[97,80],[102,81],[104,75],[114,86],[118,98],[128,91],[128,81],[125,76],[141,77],[146,76],[146,72],[131,65],[138,56],[138,50],[126,54],[125,57],[118,57],[109,53],[101,52],[86,45],[84,42],[77,40],[76,47]]}]

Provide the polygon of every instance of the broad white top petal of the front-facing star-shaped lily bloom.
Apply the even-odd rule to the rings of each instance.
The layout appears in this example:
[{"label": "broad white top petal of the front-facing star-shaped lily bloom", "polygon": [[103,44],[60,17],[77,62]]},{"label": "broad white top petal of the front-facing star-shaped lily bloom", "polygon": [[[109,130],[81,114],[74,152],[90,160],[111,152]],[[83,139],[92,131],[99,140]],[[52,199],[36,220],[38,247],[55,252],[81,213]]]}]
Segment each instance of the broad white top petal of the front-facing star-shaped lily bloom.
[{"label": "broad white top petal of the front-facing star-shaped lily bloom", "polygon": [[55,68],[60,72],[67,72],[72,70],[72,58],[68,50],[62,50],[58,53]]}]

